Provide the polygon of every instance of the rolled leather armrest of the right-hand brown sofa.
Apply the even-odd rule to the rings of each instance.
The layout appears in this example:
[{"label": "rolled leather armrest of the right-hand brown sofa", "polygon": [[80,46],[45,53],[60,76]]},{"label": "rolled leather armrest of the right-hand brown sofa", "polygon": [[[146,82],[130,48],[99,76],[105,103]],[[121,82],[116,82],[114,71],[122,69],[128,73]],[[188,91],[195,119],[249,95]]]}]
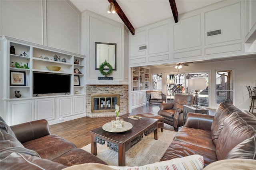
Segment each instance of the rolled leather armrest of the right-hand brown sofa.
[{"label": "rolled leather armrest of the right-hand brown sofa", "polygon": [[211,130],[214,116],[200,113],[188,113],[186,123],[183,127]]}]

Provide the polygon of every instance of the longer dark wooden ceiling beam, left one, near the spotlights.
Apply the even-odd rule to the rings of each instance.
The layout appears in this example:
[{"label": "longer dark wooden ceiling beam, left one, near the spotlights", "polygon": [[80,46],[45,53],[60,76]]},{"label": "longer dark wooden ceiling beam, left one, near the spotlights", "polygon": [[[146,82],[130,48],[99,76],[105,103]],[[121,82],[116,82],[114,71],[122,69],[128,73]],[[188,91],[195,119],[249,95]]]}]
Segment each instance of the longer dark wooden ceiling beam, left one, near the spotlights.
[{"label": "longer dark wooden ceiling beam, left one, near the spotlights", "polygon": [[120,6],[118,5],[118,3],[116,2],[116,0],[108,0],[109,3],[113,2],[114,6],[115,6],[115,10],[116,13],[118,14],[118,16],[121,18],[121,20],[124,22],[124,24],[126,25],[126,27],[128,28],[128,30],[130,30],[130,32],[132,33],[132,35],[135,34],[135,30],[134,27],[132,26],[132,24],[130,23],[130,21],[128,20],[128,18],[126,17],[126,15],[124,14],[123,10],[120,8]]}]

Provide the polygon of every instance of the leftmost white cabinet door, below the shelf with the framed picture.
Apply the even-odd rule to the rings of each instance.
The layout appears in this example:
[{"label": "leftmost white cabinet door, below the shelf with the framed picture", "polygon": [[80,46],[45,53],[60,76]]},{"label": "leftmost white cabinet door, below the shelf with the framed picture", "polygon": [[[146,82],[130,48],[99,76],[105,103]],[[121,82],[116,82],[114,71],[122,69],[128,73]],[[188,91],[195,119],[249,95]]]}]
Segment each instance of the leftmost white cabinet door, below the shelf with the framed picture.
[{"label": "leftmost white cabinet door, below the shelf with the framed picture", "polygon": [[10,101],[12,125],[34,121],[34,100]]}]

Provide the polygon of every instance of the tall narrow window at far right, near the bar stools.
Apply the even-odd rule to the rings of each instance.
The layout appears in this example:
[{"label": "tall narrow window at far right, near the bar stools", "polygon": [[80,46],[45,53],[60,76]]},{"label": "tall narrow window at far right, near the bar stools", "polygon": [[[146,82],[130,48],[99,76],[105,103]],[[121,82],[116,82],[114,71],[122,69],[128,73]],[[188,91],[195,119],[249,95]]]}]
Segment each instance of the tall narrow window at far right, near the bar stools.
[{"label": "tall narrow window at far right, near the bar stools", "polygon": [[216,71],[216,104],[233,103],[232,70]]}]

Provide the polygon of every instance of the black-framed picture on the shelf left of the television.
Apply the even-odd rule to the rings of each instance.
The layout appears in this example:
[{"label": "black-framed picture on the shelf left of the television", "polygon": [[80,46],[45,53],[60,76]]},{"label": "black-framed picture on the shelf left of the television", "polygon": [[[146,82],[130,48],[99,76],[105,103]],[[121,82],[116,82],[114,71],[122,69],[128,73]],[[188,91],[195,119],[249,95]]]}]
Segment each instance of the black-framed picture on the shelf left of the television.
[{"label": "black-framed picture on the shelf left of the television", "polygon": [[26,86],[25,71],[10,71],[10,86]]}]

